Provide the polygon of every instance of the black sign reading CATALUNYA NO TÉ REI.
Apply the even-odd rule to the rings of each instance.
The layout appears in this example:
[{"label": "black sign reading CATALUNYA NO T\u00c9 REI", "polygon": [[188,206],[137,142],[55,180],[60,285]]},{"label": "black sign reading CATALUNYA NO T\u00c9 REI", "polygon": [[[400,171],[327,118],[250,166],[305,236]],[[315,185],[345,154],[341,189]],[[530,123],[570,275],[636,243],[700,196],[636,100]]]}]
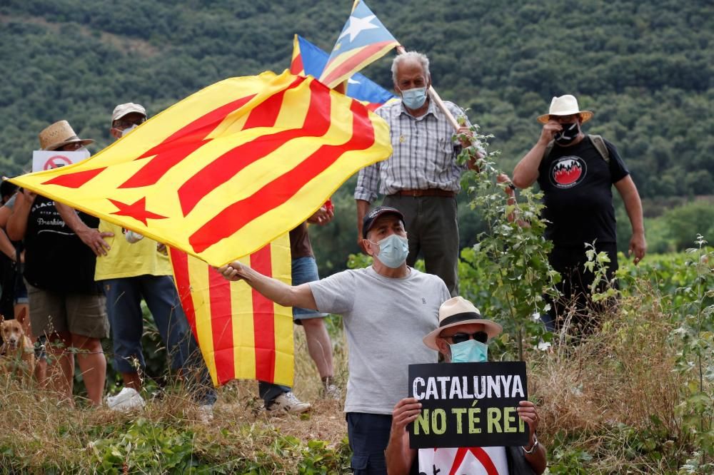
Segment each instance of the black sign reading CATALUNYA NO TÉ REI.
[{"label": "black sign reading CATALUNYA NO T\u00c9 REI", "polygon": [[528,444],[516,412],[528,399],[525,362],[410,364],[409,395],[422,405],[412,449]]}]

